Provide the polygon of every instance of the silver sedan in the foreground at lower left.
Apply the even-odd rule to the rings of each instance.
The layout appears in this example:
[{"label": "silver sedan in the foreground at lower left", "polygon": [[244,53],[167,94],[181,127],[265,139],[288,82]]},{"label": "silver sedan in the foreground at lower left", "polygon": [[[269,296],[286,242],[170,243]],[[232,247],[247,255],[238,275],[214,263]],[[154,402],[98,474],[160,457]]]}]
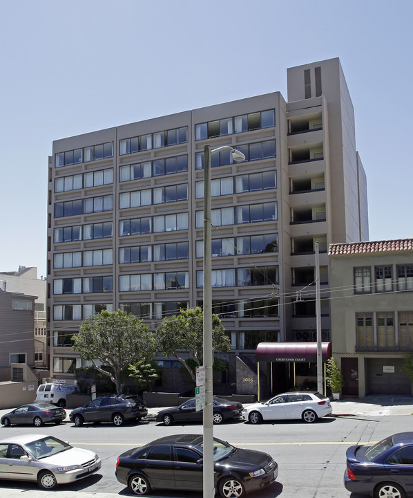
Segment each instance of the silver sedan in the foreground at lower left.
[{"label": "silver sedan in the foreground at lower left", "polygon": [[75,448],[53,436],[21,434],[0,439],[1,479],[37,481],[44,489],[93,474],[102,466],[95,452]]}]

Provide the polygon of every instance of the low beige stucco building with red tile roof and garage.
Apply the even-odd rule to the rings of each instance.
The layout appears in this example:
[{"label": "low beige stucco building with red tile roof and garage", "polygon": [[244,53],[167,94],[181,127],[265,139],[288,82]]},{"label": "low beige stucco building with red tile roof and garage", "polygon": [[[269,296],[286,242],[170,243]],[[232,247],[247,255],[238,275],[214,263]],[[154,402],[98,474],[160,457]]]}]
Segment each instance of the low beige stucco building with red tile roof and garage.
[{"label": "low beige stucco building with red tile roof and garage", "polygon": [[343,395],[411,394],[404,353],[413,353],[413,239],[329,246],[332,354]]}]

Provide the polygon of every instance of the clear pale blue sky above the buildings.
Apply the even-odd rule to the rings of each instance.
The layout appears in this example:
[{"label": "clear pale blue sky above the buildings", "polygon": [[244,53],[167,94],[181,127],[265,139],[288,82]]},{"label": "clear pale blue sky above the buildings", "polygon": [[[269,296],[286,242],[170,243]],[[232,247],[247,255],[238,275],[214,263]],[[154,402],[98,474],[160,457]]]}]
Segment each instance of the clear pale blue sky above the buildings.
[{"label": "clear pale blue sky above the buildings", "polygon": [[46,275],[52,141],[280,91],[340,57],[370,239],[413,237],[411,0],[5,0],[0,271]]}]

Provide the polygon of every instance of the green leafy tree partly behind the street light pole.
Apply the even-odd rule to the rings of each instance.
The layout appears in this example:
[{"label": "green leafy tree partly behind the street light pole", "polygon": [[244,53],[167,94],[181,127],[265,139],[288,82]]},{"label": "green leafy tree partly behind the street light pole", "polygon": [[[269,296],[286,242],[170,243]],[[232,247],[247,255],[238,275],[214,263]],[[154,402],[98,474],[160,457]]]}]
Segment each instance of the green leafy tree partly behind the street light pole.
[{"label": "green leafy tree partly behind the street light pole", "polygon": [[[173,356],[186,368],[195,382],[195,373],[180,351],[189,352],[189,357],[202,365],[203,320],[201,308],[181,309],[175,316],[165,317],[155,331],[157,349],[164,356]],[[212,315],[212,347],[213,352],[227,353],[231,349],[231,340],[225,335],[224,326],[218,315]]]}]

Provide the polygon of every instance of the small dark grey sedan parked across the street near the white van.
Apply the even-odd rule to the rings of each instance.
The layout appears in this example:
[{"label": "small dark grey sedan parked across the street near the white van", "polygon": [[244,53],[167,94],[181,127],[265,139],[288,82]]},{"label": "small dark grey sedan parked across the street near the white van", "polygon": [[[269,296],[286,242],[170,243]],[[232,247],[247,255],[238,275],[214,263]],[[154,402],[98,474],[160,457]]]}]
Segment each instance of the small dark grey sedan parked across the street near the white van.
[{"label": "small dark grey sedan parked across the street near the white van", "polygon": [[12,424],[33,424],[35,427],[40,427],[46,422],[59,424],[65,418],[66,412],[61,407],[50,405],[50,403],[30,403],[4,414],[0,422],[4,427],[10,427]]}]

